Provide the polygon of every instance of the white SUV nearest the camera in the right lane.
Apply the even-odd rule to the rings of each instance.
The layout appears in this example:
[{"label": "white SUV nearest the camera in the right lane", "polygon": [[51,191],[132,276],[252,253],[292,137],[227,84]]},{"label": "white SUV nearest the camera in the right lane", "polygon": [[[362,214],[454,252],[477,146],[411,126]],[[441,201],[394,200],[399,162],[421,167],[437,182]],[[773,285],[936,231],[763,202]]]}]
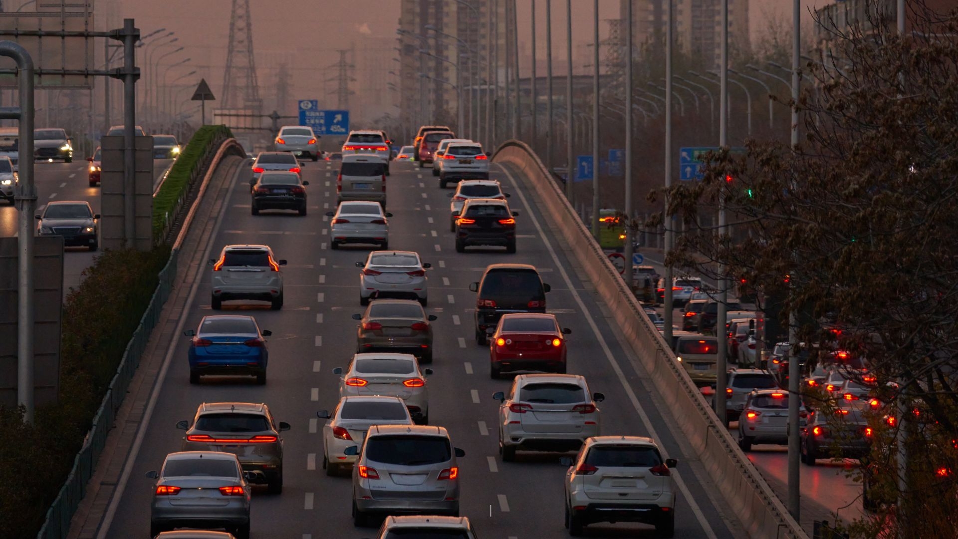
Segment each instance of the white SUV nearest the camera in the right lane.
[{"label": "white SUV nearest the camera in the right lane", "polygon": [[563,457],[565,527],[582,535],[582,527],[599,522],[640,522],[655,526],[660,537],[675,530],[675,487],[670,468],[651,438],[595,436],[579,455]]}]

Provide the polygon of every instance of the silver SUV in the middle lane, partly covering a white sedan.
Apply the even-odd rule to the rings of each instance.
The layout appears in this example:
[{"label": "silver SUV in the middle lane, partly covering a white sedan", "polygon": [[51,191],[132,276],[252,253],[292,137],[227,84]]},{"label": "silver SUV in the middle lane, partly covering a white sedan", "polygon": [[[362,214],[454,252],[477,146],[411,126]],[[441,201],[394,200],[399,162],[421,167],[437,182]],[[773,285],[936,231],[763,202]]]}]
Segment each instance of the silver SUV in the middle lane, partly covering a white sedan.
[{"label": "silver SUV in the middle lane, partly covering a white sedan", "polygon": [[374,425],[353,468],[353,522],[365,527],[370,513],[459,516],[459,464],[466,452],[452,447],[443,427]]}]

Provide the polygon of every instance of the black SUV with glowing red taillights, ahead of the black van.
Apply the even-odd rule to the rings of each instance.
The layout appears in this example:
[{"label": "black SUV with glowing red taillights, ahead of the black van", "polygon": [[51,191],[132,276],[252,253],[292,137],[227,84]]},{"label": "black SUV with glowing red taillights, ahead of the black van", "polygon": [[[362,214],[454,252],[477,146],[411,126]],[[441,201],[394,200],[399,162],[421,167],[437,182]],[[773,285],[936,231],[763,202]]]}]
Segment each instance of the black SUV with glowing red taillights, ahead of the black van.
[{"label": "black SUV with glowing red taillights, ahead of the black van", "polygon": [[505,246],[515,252],[515,217],[502,199],[468,199],[456,218],[456,252],[467,246]]}]

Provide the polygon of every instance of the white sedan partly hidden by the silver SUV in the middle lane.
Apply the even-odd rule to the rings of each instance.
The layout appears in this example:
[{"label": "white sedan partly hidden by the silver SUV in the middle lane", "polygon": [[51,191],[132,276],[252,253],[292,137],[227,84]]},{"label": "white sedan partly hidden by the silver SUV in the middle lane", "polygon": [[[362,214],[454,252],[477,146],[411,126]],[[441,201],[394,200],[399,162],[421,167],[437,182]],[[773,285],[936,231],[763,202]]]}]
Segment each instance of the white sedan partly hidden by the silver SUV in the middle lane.
[{"label": "white sedan partly hidden by the silver SUV in the middle lane", "polygon": [[316,416],[327,420],[323,426],[323,468],[328,476],[355,462],[355,456],[346,455],[346,448],[361,446],[373,425],[413,424],[402,399],[382,395],[342,397],[332,413],[319,410]]}]

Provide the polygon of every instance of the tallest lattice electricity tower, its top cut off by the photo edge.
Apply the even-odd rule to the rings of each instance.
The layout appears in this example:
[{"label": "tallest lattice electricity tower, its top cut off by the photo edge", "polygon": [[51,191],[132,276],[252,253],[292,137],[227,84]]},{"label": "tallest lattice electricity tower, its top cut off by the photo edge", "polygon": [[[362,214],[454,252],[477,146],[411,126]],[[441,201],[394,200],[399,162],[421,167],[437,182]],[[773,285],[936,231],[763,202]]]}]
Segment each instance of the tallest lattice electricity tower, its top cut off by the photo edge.
[{"label": "tallest lattice electricity tower, its top cut off by the photo edge", "polygon": [[233,0],[230,12],[230,43],[223,73],[223,108],[262,107],[260,84],[253,57],[253,19],[249,0]]}]

